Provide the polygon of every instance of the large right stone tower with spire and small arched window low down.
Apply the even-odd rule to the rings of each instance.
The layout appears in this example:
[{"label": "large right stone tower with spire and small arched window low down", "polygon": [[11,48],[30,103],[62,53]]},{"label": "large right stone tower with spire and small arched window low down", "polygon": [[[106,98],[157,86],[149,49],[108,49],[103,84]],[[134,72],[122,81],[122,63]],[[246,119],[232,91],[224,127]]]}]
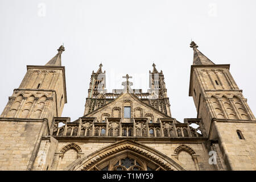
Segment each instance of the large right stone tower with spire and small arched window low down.
[{"label": "large right stone tower with spire and small arched window low down", "polygon": [[255,168],[255,117],[229,72],[229,64],[214,64],[195,42],[190,47],[194,57],[189,96],[195,102],[197,118],[204,123],[209,150],[217,151],[216,168]]}]

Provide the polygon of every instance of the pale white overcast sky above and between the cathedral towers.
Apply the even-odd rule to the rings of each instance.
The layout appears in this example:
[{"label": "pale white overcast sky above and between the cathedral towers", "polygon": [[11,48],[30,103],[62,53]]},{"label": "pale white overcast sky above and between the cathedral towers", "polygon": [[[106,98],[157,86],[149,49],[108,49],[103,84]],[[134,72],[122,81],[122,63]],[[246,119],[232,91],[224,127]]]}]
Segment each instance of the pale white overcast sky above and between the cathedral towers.
[{"label": "pale white overcast sky above and between the cathedral towers", "polygon": [[26,65],[44,65],[64,43],[68,103],[63,117],[84,114],[90,75],[102,62],[106,88],[148,89],[152,63],[162,69],[172,117],[195,118],[188,96],[191,39],[230,72],[256,114],[256,1],[0,1],[0,110]]}]

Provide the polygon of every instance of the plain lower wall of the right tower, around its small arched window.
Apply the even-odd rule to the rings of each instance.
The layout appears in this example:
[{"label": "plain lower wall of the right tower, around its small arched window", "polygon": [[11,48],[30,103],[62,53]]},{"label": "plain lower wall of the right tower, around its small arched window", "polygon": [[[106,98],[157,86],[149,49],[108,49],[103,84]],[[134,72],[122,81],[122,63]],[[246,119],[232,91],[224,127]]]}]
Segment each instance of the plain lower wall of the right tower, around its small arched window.
[{"label": "plain lower wall of the right tower, around its small arched window", "polygon": [[[220,147],[233,170],[256,170],[256,124],[251,122],[217,122]],[[245,139],[240,139],[237,130]]]}]

